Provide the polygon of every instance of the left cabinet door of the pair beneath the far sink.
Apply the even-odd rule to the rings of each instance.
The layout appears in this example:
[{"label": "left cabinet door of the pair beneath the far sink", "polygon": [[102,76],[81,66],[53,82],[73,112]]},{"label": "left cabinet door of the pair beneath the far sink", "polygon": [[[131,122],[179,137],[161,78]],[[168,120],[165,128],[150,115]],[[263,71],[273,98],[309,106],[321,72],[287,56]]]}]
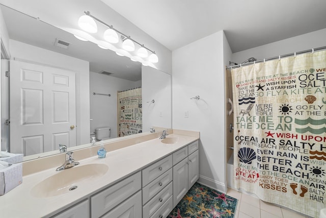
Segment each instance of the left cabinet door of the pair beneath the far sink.
[{"label": "left cabinet door of the pair beneath the far sink", "polygon": [[188,158],[173,166],[173,207],[188,191]]}]

